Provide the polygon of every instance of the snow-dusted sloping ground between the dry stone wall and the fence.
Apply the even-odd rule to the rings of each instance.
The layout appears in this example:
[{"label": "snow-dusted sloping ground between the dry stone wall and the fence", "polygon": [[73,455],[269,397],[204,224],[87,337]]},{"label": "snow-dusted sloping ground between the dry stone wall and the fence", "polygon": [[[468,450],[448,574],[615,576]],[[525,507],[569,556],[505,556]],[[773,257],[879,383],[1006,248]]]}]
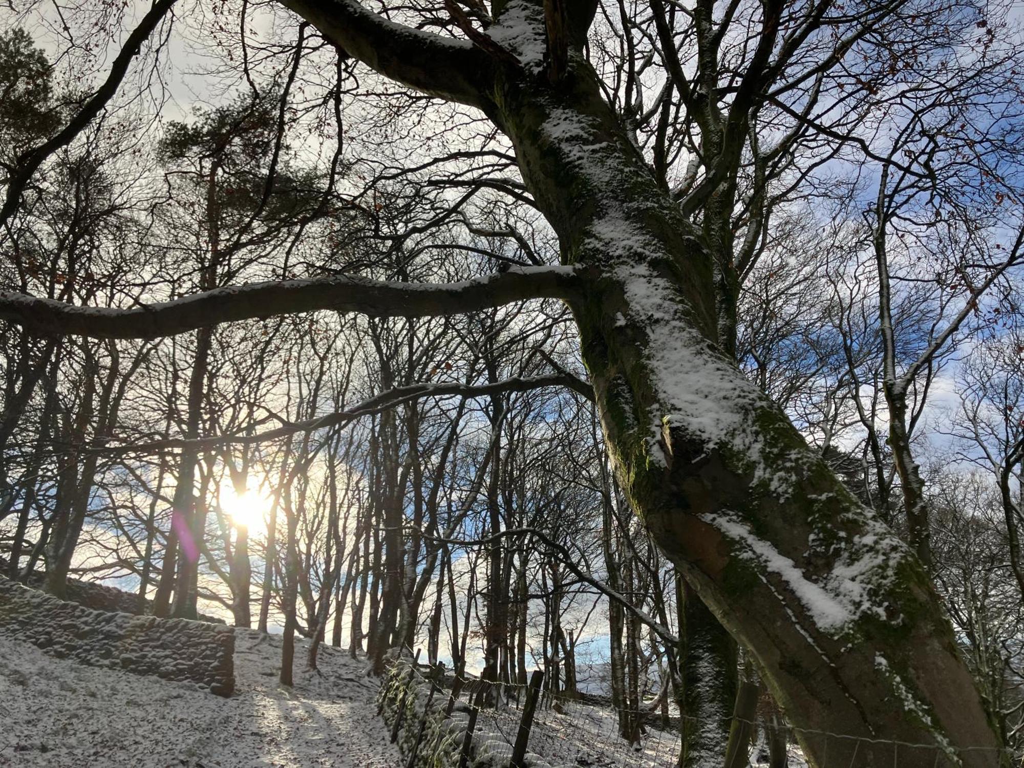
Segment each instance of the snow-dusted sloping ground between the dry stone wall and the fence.
[{"label": "snow-dusted sloping ground between the dry stone wall and the fence", "polygon": [[322,675],[278,684],[281,638],[236,633],[236,694],[47,656],[0,636],[0,766],[398,768],[366,665],[322,647]]}]

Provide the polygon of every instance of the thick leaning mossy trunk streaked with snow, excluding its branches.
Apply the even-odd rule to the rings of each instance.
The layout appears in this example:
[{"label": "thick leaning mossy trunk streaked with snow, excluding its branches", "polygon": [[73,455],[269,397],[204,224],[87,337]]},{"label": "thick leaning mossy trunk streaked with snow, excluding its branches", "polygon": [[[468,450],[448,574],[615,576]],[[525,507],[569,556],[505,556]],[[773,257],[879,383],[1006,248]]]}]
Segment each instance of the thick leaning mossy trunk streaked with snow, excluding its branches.
[{"label": "thick leaning mossy trunk streaked with snow, excluding its branches", "polygon": [[933,766],[937,751],[999,764],[920,561],[719,349],[715,256],[589,65],[572,55],[557,86],[509,70],[490,102],[563,261],[589,267],[570,306],[623,488],[756,656],[812,761],[893,760],[891,743],[813,730],[929,745],[901,767]]}]

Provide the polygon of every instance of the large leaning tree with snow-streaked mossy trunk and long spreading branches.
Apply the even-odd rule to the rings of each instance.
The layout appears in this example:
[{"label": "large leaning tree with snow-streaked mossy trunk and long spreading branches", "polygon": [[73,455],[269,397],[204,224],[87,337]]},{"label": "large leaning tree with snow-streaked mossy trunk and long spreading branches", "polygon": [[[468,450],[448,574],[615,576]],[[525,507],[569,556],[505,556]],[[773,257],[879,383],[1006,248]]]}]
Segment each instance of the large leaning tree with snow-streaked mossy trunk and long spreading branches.
[{"label": "large leaning tree with snow-streaked mossy trunk and long spreading branches", "polygon": [[[1002,764],[921,560],[734,361],[739,288],[764,247],[772,196],[851,147],[878,159],[878,110],[896,111],[907,93],[940,102],[948,91],[933,71],[968,86],[965,71],[991,79],[991,36],[976,9],[649,0],[598,14],[589,0],[493,0],[489,8],[449,0],[443,14],[424,11],[417,24],[408,7],[282,3],[340,59],[486,116],[511,141],[562,264],[452,284],[333,276],[219,287],[131,308],[7,292],[0,317],[43,335],[160,338],[314,309],[412,317],[560,299],[579,327],[604,439],[634,511],[753,654],[811,760]],[[102,87],[18,158],[0,218],[15,211],[45,159],[101,112],[173,6],[153,4]],[[403,14],[412,24],[391,18]],[[629,78],[636,93],[656,84],[653,104],[609,97],[592,63],[603,34],[595,30],[616,25],[624,45],[646,46],[643,57],[628,57]],[[975,37],[972,58],[963,49]],[[883,158],[887,168],[926,188],[948,150],[964,167],[987,163],[988,177],[997,175],[997,152],[975,157],[978,141],[961,135],[976,125],[942,124],[927,108],[918,123],[903,121],[924,137],[920,157]],[[988,126],[998,124],[995,116]],[[652,130],[641,140],[644,126]]]}]

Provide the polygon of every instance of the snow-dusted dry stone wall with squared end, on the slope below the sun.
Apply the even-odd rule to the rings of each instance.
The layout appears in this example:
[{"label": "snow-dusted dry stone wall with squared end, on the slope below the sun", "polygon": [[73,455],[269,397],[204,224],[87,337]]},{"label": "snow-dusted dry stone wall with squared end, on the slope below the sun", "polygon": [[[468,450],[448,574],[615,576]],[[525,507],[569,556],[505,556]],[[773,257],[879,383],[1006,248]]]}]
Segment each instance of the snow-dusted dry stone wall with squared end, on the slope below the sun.
[{"label": "snow-dusted dry stone wall with squared end, on the slope below the sun", "polygon": [[234,632],[223,625],[94,610],[0,578],[0,632],[92,667],[234,690]]}]

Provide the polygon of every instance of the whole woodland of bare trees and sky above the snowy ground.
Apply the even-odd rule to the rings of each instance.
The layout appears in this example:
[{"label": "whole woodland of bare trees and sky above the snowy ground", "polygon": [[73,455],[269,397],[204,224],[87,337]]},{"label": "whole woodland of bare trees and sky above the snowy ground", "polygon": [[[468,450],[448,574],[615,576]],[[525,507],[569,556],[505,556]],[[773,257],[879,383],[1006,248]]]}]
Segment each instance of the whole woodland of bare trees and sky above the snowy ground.
[{"label": "whole woodland of bare trees and sky above the snowy ground", "polygon": [[1022,749],[1024,8],[0,12],[8,578]]}]

